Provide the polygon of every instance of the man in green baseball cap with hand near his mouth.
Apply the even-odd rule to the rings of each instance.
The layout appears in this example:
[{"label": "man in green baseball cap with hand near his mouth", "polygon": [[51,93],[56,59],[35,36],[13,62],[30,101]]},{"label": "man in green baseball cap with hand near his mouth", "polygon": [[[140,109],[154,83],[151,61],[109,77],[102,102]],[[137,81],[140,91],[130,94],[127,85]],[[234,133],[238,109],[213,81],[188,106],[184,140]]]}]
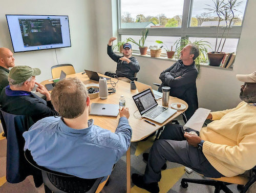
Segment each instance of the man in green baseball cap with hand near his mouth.
[{"label": "man in green baseball cap with hand near his mouth", "polygon": [[[35,82],[35,76],[41,74],[40,69],[28,66],[15,66],[8,75],[9,85],[0,95],[3,111],[15,115],[27,115],[33,123],[48,116],[58,115],[51,103],[51,95],[44,85]],[[34,93],[32,89],[46,96],[46,101]],[[31,124],[33,124],[31,123]]]}]

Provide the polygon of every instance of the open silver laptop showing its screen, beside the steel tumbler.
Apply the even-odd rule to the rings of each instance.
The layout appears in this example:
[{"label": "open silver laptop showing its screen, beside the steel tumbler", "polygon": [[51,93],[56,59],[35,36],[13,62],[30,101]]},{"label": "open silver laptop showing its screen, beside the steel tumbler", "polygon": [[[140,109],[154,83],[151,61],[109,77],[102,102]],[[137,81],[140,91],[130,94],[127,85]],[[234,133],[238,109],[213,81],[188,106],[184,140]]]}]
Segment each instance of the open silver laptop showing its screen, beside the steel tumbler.
[{"label": "open silver laptop showing its screen, beside the steel tumbler", "polygon": [[142,117],[151,119],[158,123],[163,123],[177,112],[177,110],[158,105],[150,89],[134,95],[133,100]]}]

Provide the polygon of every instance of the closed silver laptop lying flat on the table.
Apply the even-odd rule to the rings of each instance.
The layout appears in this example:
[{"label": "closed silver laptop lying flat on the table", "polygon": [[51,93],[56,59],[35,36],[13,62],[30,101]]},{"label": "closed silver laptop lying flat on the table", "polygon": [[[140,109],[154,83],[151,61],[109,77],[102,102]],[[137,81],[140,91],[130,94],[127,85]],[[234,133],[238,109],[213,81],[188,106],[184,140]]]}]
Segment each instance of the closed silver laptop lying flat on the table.
[{"label": "closed silver laptop lying flat on the table", "polygon": [[92,103],[90,115],[117,117],[119,113],[118,104]]}]

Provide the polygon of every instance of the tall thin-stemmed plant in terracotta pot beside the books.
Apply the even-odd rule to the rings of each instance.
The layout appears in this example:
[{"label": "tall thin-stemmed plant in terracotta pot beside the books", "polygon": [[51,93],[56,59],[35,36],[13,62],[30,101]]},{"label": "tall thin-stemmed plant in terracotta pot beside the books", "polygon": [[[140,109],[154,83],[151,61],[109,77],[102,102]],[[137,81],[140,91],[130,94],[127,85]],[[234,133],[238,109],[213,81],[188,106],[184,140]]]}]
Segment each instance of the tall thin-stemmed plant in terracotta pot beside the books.
[{"label": "tall thin-stemmed plant in terracotta pot beside the books", "polygon": [[[208,58],[209,58],[210,66],[220,66],[221,61],[225,56],[225,53],[223,53],[222,50],[225,45],[229,30],[232,26],[232,20],[234,19],[234,12],[237,11],[237,7],[239,7],[242,4],[242,2],[238,2],[237,0],[228,0],[227,3],[225,3],[224,0],[211,0],[211,1],[214,3],[214,5],[211,6],[206,4],[206,6],[208,6],[209,8],[205,8],[205,9],[210,11],[210,13],[216,13],[218,15],[218,27],[217,27],[217,34],[216,34],[215,50],[214,52],[208,53]],[[222,20],[225,21],[226,26],[222,32],[221,40],[218,43],[219,27],[220,27],[220,22]],[[225,32],[226,32],[226,35],[225,35]],[[221,43],[223,39],[224,41],[221,47]],[[220,50],[220,47],[221,47],[221,50]]]}]

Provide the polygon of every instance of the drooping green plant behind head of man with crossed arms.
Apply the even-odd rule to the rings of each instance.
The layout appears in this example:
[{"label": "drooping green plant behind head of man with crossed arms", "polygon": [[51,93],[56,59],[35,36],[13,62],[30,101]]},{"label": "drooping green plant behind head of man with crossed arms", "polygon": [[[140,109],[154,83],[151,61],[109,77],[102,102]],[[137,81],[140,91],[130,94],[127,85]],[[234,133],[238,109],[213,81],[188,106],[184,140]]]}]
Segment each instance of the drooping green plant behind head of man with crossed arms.
[{"label": "drooping green plant behind head of man with crossed arms", "polygon": [[174,43],[174,45],[176,45],[175,52],[178,57],[180,56],[180,52],[182,51],[182,49],[188,44],[197,45],[199,48],[199,56],[195,59],[195,65],[199,73],[200,62],[204,63],[207,60],[208,48],[211,48],[210,43],[208,41],[204,41],[203,39],[192,42],[188,38],[180,38]]}]

